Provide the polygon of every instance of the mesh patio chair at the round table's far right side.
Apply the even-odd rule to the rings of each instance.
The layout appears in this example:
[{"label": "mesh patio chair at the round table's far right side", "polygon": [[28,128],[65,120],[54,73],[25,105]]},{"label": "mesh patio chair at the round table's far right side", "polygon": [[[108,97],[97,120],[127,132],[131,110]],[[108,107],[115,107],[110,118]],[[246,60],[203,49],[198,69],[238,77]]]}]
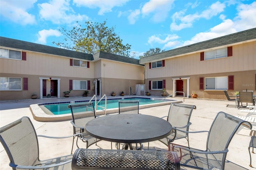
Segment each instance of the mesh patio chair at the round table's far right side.
[{"label": "mesh patio chair at the round table's far right side", "polygon": [[166,144],[166,146],[169,146],[174,140],[186,138],[189,146],[188,130],[191,125],[190,117],[193,109],[196,109],[195,105],[172,103],[170,105],[167,121],[170,122],[174,128],[174,132],[167,136],[167,138],[160,139],[160,141]]}]

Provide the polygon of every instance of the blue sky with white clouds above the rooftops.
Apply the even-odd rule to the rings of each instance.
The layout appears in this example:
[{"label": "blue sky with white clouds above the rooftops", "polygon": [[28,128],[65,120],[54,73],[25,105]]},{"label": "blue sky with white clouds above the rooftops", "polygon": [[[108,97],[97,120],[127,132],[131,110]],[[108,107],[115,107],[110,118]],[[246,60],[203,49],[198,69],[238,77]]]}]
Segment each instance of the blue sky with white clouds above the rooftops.
[{"label": "blue sky with white clouds above the rooftops", "polygon": [[0,0],[0,36],[55,46],[60,28],[115,27],[138,58],[256,27],[254,0]]}]

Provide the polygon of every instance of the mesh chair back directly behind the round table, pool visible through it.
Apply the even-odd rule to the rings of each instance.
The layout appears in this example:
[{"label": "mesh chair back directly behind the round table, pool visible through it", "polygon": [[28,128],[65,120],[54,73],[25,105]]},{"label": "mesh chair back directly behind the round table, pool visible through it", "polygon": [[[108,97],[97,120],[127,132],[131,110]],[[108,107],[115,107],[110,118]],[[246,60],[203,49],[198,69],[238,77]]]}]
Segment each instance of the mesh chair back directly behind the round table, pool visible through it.
[{"label": "mesh chair back directly behind the round table, pool visible through it", "polygon": [[139,101],[138,100],[120,100],[118,101],[118,111],[120,113],[138,113],[139,114]]}]

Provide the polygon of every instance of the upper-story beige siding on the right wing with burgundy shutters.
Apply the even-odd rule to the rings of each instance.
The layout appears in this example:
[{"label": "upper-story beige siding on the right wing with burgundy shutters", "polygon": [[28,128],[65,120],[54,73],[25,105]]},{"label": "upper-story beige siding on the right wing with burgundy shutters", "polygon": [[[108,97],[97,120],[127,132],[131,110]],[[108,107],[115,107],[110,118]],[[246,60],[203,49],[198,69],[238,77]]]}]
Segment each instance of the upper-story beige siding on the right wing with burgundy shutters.
[{"label": "upper-story beige siding on the right wing with burgundy shutters", "polygon": [[233,56],[200,61],[200,53],[165,60],[165,67],[149,69],[147,78],[256,70],[256,41],[233,46]]}]

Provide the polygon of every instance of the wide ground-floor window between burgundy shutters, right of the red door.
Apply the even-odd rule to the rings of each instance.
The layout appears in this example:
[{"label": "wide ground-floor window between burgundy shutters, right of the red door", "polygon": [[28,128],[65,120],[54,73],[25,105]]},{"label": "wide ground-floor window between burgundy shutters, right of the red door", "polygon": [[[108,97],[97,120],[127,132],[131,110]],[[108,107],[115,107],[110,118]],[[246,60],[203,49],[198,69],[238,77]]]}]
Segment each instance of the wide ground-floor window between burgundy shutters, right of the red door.
[{"label": "wide ground-floor window between burgundy shutters, right of the red door", "polygon": [[228,77],[208,77],[205,78],[206,90],[227,90]]}]

